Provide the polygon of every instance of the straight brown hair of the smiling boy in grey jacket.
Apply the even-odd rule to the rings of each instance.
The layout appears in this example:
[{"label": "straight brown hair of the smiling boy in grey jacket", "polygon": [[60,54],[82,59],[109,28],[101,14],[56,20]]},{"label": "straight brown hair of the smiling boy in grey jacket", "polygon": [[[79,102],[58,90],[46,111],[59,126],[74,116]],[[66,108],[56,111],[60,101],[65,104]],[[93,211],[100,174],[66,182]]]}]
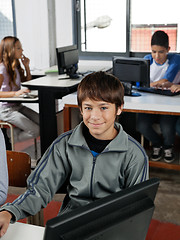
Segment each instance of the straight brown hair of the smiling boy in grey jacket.
[{"label": "straight brown hair of the smiling boy in grey jacket", "polygon": [[77,91],[78,106],[86,99],[114,103],[116,109],[124,104],[124,88],[120,80],[106,72],[94,72],[80,82]]}]

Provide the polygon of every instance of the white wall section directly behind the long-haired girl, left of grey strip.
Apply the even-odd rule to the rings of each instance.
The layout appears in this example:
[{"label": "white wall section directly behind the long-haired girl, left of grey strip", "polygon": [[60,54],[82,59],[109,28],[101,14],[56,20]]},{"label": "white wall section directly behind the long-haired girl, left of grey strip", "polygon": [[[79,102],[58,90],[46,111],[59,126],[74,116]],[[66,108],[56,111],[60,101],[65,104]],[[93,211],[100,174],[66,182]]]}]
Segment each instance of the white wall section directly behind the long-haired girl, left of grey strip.
[{"label": "white wall section directly behind the long-haired girl, left of grey strip", "polygon": [[30,58],[31,69],[49,66],[47,2],[16,0],[15,14],[17,37]]}]

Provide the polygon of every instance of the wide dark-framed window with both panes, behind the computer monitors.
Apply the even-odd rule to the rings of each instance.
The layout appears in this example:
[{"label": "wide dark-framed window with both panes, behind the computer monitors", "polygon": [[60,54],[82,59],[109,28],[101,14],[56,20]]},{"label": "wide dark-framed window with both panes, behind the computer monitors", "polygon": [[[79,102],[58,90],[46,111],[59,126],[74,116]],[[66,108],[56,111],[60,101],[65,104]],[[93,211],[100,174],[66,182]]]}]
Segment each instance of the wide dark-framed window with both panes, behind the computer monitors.
[{"label": "wide dark-framed window with both panes, behind the computer monitors", "polygon": [[169,35],[173,52],[180,52],[179,0],[81,0],[78,18],[80,55],[138,56],[151,51],[157,30]]}]

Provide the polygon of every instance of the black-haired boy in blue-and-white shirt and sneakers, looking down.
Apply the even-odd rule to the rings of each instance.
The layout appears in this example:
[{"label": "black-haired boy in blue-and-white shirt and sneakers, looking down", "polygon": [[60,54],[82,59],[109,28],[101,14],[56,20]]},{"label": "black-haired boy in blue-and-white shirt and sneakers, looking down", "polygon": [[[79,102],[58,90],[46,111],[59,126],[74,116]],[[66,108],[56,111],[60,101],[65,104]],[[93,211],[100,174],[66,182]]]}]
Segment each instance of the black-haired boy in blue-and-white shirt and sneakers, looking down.
[{"label": "black-haired boy in blue-and-white shirt and sneakers, looking down", "polygon": [[[150,59],[150,86],[159,87],[172,82],[180,68],[180,55],[169,53],[169,37],[163,31],[157,31],[151,39],[152,53],[145,56]],[[173,145],[175,139],[175,123],[177,117],[158,114],[138,114],[137,130],[152,142],[151,160],[174,161]],[[163,139],[154,130],[153,124],[159,123]]]}]

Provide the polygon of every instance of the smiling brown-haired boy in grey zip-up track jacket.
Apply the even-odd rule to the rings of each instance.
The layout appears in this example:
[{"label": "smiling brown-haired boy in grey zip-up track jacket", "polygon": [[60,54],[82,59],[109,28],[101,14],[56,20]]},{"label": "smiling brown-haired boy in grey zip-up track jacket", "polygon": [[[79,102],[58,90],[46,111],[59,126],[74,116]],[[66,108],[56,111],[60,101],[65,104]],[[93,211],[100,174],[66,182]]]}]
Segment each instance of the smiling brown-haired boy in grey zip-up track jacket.
[{"label": "smiling brown-haired boy in grey zip-up track jacket", "polygon": [[28,178],[28,189],[0,209],[0,236],[9,222],[36,214],[68,179],[60,214],[148,179],[142,146],[115,122],[123,109],[124,90],[111,74],[87,75],[78,86],[83,122],[61,134]]}]

